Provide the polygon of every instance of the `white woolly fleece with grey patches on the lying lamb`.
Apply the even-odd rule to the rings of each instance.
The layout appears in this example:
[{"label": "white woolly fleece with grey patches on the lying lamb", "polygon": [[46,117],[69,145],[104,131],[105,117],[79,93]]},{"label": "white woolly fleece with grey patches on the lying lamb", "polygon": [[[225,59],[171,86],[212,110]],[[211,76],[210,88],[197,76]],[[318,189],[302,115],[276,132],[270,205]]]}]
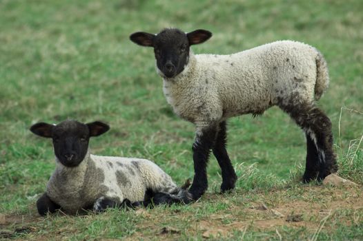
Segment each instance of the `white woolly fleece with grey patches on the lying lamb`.
[{"label": "white woolly fleece with grey patches on the lying lamb", "polygon": [[172,178],[146,159],[86,155],[77,167],[57,167],[50,177],[47,195],[68,213],[92,207],[101,197],[123,202],[143,201],[146,189],[178,191]]}]

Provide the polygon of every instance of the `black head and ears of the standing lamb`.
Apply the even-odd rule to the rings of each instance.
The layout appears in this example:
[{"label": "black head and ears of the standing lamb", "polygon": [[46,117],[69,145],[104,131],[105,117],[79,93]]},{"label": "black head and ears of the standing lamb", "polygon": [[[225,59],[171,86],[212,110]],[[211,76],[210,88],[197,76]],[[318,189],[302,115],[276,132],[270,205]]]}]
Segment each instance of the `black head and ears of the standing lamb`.
[{"label": "black head and ears of the standing lamb", "polygon": [[159,34],[135,32],[130,40],[138,45],[154,48],[157,68],[166,78],[173,78],[184,70],[189,59],[190,45],[207,41],[212,33],[207,30],[181,32],[176,28],[165,29]]}]

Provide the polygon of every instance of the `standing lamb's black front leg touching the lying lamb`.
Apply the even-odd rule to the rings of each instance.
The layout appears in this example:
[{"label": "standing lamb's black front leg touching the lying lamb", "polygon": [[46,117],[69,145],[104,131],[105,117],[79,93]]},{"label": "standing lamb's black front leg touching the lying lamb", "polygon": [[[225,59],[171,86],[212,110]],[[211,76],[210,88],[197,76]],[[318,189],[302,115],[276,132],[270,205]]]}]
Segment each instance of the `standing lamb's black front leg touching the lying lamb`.
[{"label": "standing lamb's black front leg touching the lying lamb", "polygon": [[193,199],[199,199],[206,189],[208,188],[208,180],[206,167],[210,154],[215,143],[215,136],[217,134],[216,125],[212,125],[207,128],[197,128],[197,134],[195,136],[195,142],[193,144],[193,160],[194,160],[194,179],[193,184],[189,189]]}]

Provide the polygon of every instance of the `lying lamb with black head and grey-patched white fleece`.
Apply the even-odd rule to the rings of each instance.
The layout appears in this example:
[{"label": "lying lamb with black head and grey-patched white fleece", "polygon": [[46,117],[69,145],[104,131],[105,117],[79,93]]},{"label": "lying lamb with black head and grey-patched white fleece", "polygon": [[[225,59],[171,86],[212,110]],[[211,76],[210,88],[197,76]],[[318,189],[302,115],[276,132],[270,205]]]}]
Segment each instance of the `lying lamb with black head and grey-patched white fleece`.
[{"label": "lying lamb with black head and grey-patched white fleece", "polygon": [[99,121],[83,124],[63,121],[58,125],[37,123],[30,131],[52,138],[57,167],[48,181],[46,193],[37,200],[40,215],[63,209],[104,211],[108,207],[147,206],[190,202],[186,187],[173,180],[150,160],[95,156],[90,154],[91,136],[110,127]]}]

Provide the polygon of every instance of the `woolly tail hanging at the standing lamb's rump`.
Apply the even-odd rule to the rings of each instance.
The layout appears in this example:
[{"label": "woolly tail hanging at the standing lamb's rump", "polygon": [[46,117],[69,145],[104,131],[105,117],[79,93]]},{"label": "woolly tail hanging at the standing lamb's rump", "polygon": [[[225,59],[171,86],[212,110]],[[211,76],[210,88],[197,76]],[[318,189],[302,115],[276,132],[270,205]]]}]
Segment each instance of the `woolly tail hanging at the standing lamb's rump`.
[{"label": "woolly tail hanging at the standing lamb's rump", "polygon": [[329,74],[328,65],[324,56],[318,51],[316,56],[316,82],[315,82],[315,100],[319,100],[322,97],[323,92],[328,88]]}]

